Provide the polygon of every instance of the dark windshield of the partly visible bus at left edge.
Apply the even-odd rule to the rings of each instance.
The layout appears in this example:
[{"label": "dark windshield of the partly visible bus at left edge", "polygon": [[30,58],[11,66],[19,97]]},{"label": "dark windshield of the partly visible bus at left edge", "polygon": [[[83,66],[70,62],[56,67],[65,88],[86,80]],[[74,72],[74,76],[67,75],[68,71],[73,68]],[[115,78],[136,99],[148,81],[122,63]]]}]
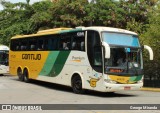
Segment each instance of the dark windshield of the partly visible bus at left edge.
[{"label": "dark windshield of the partly visible bus at left edge", "polygon": [[9,51],[0,51],[0,64],[1,65],[8,65],[8,54]]}]

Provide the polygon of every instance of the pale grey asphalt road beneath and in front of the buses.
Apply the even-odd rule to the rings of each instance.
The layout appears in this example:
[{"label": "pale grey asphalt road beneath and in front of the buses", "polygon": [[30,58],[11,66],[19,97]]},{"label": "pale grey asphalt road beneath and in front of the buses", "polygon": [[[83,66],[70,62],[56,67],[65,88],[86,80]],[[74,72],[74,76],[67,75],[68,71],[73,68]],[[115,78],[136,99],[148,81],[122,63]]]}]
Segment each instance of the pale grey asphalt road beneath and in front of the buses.
[{"label": "pale grey asphalt road beneath and in front of the buses", "polygon": [[[115,110],[73,110],[65,109],[66,106],[60,106],[57,110],[46,110],[45,112],[55,113],[160,113],[159,110],[139,110],[134,108],[134,104],[160,104],[160,92],[152,91],[119,91],[115,93],[101,93],[88,91],[86,94],[74,94],[70,87],[45,83],[41,81],[32,81],[24,83],[17,77],[10,75],[0,76],[0,104],[50,104],[54,105],[82,105],[90,104],[111,105]],[[87,104],[87,105],[85,105]],[[132,110],[116,110],[117,106],[112,104],[131,104]],[[94,107],[94,106],[91,106]],[[96,106],[95,106],[96,107]],[[160,108],[160,105],[157,105]],[[80,109],[80,108],[78,108]],[[0,111],[5,113],[22,113],[20,110]],[[44,111],[23,111],[27,113],[41,113]]]}]

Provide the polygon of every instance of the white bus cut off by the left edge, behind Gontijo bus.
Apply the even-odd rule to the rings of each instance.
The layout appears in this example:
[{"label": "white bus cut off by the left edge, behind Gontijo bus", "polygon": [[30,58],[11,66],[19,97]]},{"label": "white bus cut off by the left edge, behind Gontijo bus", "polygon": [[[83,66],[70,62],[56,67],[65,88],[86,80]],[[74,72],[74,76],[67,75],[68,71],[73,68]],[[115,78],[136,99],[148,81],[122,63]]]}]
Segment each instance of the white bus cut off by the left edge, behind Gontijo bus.
[{"label": "white bus cut off by the left edge, behind Gontijo bus", "polygon": [[0,75],[9,73],[9,47],[0,45]]}]

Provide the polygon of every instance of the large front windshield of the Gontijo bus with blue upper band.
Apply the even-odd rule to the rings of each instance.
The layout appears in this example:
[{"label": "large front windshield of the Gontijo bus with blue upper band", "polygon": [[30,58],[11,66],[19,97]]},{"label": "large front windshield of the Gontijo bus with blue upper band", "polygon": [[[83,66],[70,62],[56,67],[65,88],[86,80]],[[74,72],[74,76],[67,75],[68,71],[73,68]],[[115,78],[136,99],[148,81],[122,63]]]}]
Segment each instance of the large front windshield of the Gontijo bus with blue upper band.
[{"label": "large front windshield of the Gontijo bus with blue upper band", "polygon": [[103,33],[102,36],[111,48],[110,59],[105,59],[106,73],[142,74],[142,53],[136,36],[118,33]]}]

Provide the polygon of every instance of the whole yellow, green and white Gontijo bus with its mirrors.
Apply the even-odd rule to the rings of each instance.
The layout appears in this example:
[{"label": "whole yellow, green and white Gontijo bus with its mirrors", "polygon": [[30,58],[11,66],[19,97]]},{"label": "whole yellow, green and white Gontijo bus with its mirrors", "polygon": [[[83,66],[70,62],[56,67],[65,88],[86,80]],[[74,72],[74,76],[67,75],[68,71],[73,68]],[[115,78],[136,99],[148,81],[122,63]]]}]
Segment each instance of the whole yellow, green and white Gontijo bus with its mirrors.
[{"label": "whole yellow, green and white Gontijo bus with its mirrors", "polygon": [[[149,46],[145,47],[153,59]],[[110,27],[56,28],[11,38],[10,74],[100,92],[143,86],[142,47],[136,33]]]}]

